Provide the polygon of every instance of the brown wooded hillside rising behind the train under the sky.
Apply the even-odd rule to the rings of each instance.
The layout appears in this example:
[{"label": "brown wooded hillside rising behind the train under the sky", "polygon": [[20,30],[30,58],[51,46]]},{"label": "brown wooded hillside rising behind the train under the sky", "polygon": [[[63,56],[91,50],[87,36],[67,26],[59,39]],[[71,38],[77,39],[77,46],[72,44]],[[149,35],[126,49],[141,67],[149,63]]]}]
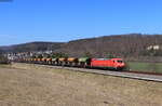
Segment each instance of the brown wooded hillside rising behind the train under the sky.
[{"label": "brown wooded hillside rising behind the train under the sky", "polygon": [[73,40],[67,43],[32,42],[4,49],[13,52],[53,50],[55,53],[62,52],[76,57],[86,54],[93,57],[106,57],[112,54],[132,61],[162,61],[162,35],[114,35]]}]

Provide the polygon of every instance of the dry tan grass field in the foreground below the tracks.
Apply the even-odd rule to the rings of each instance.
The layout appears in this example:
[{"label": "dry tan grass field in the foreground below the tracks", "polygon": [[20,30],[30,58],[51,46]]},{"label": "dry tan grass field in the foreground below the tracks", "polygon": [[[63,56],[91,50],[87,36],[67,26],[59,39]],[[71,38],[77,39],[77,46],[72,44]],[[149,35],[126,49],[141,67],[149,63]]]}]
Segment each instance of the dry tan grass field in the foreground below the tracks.
[{"label": "dry tan grass field in the foreground below the tracks", "polygon": [[14,64],[0,68],[0,106],[162,106],[162,83]]}]

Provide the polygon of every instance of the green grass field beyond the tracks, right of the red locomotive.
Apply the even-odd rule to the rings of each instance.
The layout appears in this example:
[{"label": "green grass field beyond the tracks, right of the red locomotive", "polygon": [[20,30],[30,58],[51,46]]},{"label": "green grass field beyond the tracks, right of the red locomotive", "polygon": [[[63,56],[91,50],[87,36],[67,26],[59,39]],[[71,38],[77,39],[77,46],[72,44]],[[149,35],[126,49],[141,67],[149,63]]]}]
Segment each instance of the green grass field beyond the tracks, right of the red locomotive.
[{"label": "green grass field beyond the tracks, right of the red locomotive", "polygon": [[131,70],[162,74],[162,63],[127,62],[127,66]]}]

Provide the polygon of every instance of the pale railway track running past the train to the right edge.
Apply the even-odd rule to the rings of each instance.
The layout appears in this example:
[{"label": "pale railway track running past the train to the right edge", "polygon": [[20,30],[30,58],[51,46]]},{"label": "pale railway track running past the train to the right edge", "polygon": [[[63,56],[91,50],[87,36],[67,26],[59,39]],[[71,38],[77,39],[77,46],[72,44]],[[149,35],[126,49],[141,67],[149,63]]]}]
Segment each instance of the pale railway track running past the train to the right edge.
[{"label": "pale railway track running past the train to the right edge", "polygon": [[36,64],[36,65],[43,66],[43,67],[45,66],[45,67],[51,67],[51,68],[57,68],[57,69],[68,69],[68,70],[73,70],[73,71],[82,71],[82,72],[91,72],[91,74],[98,74],[98,75],[105,75],[105,76],[114,76],[114,77],[122,77],[122,78],[162,82],[162,75],[151,74],[151,72],[112,71],[112,70],[64,67],[64,66],[40,65],[40,64]]}]

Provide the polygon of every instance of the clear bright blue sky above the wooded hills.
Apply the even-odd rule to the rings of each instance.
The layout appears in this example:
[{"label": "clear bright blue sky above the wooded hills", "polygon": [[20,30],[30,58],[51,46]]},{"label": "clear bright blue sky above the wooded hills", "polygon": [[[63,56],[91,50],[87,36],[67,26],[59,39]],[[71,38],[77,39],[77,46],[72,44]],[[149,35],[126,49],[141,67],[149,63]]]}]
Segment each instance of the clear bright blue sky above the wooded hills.
[{"label": "clear bright blue sky above the wooded hills", "polygon": [[162,34],[161,5],[162,0],[0,0],[0,45]]}]

